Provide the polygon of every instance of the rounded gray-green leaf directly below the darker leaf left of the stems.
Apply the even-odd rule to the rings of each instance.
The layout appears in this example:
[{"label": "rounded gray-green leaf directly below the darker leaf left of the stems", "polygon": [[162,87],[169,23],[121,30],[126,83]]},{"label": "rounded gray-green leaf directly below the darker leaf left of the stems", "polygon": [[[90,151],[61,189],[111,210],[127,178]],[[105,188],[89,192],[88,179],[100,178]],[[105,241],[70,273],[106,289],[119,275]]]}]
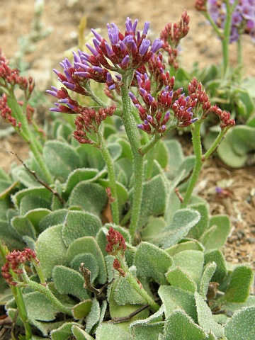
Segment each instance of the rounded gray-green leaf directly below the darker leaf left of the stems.
[{"label": "rounded gray-green leaf directly below the darker leaf left of the stems", "polygon": [[96,236],[102,226],[101,220],[90,212],[70,210],[64,221],[62,237],[66,246],[74,239],[84,236]]}]

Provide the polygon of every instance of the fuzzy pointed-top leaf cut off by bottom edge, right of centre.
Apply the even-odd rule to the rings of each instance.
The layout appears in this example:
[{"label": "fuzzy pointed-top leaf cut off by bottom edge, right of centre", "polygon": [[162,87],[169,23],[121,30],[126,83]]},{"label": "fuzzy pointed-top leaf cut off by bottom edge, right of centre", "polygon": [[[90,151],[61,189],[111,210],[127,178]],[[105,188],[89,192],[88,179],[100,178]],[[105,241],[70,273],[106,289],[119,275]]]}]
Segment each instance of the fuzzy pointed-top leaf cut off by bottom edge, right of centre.
[{"label": "fuzzy pointed-top leaf cut off by bottom edge, right of centre", "polygon": [[205,340],[206,335],[183,310],[176,310],[166,319],[164,340]]}]

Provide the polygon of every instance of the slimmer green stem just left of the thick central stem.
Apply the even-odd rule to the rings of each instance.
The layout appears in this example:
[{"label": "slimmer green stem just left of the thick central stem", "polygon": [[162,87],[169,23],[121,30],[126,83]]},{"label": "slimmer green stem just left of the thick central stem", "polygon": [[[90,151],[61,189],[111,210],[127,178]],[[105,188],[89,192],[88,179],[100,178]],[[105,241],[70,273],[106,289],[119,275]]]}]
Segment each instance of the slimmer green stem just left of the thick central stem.
[{"label": "slimmer green stem just left of the thick central stem", "polygon": [[97,132],[98,137],[98,144],[100,145],[98,148],[101,152],[101,155],[106,162],[106,166],[108,169],[108,179],[109,179],[109,186],[111,188],[111,209],[113,214],[113,223],[115,225],[119,224],[119,212],[118,212],[118,195],[117,195],[117,186],[116,186],[116,176],[115,176],[115,169],[113,164],[113,159],[111,154],[106,146],[106,142],[103,139],[103,134],[101,129],[99,128]]}]

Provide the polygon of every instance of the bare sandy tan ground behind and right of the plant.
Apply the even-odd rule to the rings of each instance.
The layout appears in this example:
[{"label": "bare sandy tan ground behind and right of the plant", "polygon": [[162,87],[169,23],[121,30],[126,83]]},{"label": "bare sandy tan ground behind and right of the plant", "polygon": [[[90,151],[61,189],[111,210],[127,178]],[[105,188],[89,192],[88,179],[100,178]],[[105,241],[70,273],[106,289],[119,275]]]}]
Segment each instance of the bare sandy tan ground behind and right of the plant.
[{"label": "bare sandy tan ground behind and right of the plant", "polygon": [[[34,17],[34,0],[0,0],[0,47],[6,57],[11,58],[18,52],[18,38],[30,32]],[[212,34],[210,26],[196,11],[193,0],[45,0],[45,11],[41,21],[52,33],[39,41],[34,52],[26,56],[28,74],[35,78],[38,89],[49,89],[54,77],[52,68],[66,56],[66,50],[77,45],[77,28],[81,18],[86,16],[87,30],[102,28],[114,22],[120,29],[125,28],[125,18],[139,19],[139,28],[150,21],[152,36],[155,38],[166,23],[179,21],[186,10],[191,17],[191,30],[181,43],[181,64],[188,69],[194,62],[200,67],[218,63],[221,59],[221,44]],[[244,66],[247,76],[255,76],[255,45],[249,37],[244,37]],[[236,60],[235,46],[231,46],[231,58]],[[45,111],[47,111],[45,104]],[[42,115],[47,115],[43,112]],[[43,118],[43,117],[42,117]],[[1,132],[6,125],[1,123]],[[17,152],[26,159],[27,148],[15,135],[0,140],[0,166],[7,170],[15,161],[9,150]],[[187,150],[189,152],[189,150]],[[215,196],[215,186],[224,180],[227,187],[225,197]],[[220,182],[220,184],[222,184]],[[232,263],[255,263],[255,168],[232,170],[218,159],[212,158],[206,164],[199,183],[200,194],[210,202],[212,214],[227,213],[232,221],[232,232],[225,246],[225,255]]]}]

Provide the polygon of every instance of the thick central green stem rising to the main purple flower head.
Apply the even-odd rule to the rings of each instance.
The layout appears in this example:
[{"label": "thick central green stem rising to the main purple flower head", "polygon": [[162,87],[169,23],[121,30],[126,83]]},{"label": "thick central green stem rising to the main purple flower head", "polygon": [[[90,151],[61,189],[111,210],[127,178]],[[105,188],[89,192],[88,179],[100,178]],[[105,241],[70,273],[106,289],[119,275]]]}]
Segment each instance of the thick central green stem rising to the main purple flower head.
[{"label": "thick central green stem rising to the main purple flower head", "polygon": [[144,159],[139,153],[141,147],[140,134],[137,129],[135,118],[132,115],[130,96],[128,91],[133,77],[133,71],[128,70],[123,73],[123,86],[121,86],[121,98],[123,103],[123,124],[125,131],[130,141],[130,146],[133,155],[133,171],[134,171],[134,185],[133,185],[133,199],[132,199],[132,214],[130,221],[130,234],[132,239],[135,239],[135,234],[138,227],[140,209],[142,204],[142,183],[144,178]]}]

